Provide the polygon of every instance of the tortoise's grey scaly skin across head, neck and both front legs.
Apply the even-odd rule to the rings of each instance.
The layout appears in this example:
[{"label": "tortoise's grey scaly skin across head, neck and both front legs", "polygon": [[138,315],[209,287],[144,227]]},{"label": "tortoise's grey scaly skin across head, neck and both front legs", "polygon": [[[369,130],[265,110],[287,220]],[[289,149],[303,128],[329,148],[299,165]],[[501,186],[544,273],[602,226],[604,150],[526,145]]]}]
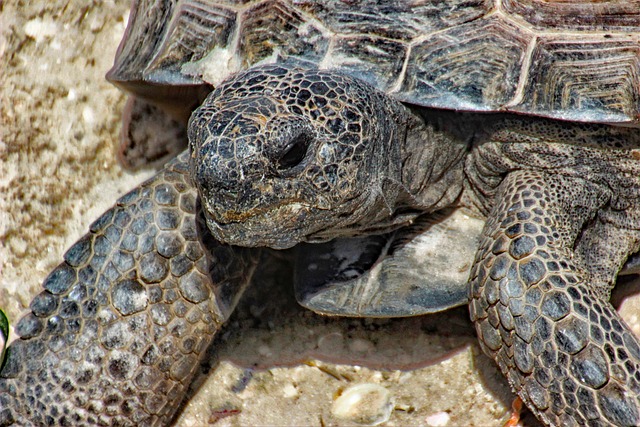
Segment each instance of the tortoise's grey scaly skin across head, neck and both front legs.
[{"label": "tortoise's grey scaly skin across head, neck and both front legs", "polygon": [[[1,374],[4,424],[171,418],[248,280],[247,257],[258,256],[216,242],[287,248],[389,231],[461,204],[487,216],[470,311],[513,389],[549,425],[639,423],[640,346],[608,302],[640,240],[636,130],[413,111],[353,78],[262,66],[221,84],[193,114],[189,139],[208,251],[181,157],[108,214],[118,233],[98,221],[45,282]],[[190,201],[169,203],[173,215],[157,195],[168,183]],[[136,233],[141,215],[147,228]],[[122,252],[133,234],[138,243]],[[179,234],[191,246],[175,243]],[[101,267],[83,286],[92,259]],[[122,338],[134,328],[142,332]],[[163,353],[165,340],[180,352]],[[60,349],[65,341],[73,346]],[[65,403],[51,404],[58,398]]]}]

